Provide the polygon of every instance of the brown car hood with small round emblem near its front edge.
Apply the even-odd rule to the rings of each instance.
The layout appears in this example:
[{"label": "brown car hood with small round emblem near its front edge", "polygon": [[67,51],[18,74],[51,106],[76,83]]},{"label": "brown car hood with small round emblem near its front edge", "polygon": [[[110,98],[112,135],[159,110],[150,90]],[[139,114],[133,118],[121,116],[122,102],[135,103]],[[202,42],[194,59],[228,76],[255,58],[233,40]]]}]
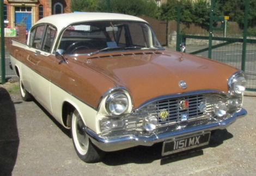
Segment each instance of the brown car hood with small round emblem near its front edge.
[{"label": "brown car hood with small round emblem near its front edge", "polygon": [[[237,71],[217,61],[172,51],[97,55],[85,62],[126,87],[135,108],[151,98],[173,93],[206,89],[228,92],[227,80]],[[186,82],[186,89],[179,86],[181,80]]]}]

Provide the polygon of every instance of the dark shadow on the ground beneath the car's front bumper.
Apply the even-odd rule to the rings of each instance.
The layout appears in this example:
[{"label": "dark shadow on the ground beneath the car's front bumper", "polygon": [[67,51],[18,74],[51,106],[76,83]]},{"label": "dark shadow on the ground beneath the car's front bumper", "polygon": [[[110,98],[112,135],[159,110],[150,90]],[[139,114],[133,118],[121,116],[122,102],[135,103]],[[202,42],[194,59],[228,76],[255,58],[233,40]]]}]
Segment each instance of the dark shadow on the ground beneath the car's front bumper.
[{"label": "dark shadow on the ground beneath the car's front bumper", "polygon": [[160,165],[166,165],[172,162],[181,161],[203,155],[204,148],[220,146],[223,143],[223,141],[228,140],[232,137],[233,135],[230,134],[226,129],[216,130],[215,134],[211,136],[210,142],[207,146],[162,156],[162,143],[157,143],[151,147],[138,146],[124,150],[119,150],[116,152],[108,152],[102,159],[102,162],[105,165],[118,166],[129,163],[149,164],[155,160],[161,160]]}]

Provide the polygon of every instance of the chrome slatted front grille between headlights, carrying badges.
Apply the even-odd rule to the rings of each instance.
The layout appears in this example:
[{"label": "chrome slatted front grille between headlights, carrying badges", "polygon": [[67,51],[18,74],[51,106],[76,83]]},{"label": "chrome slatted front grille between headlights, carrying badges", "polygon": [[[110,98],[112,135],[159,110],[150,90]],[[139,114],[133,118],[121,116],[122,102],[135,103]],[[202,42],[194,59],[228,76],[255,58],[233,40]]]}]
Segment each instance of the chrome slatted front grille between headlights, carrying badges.
[{"label": "chrome slatted front grille between headlights, carrying badges", "polygon": [[[175,99],[164,99],[151,103],[140,109],[137,114],[147,112],[158,118],[158,126],[172,125],[182,121],[190,121],[199,118],[212,116],[214,105],[221,97],[216,95],[197,95]],[[187,103],[187,107],[182,108],[182,102]],[[141,112],[140,112],[141,111]],[[167,111],[168,116],[161,118],[160,113]],[[182,117],[185,117],[182,119]]]}]

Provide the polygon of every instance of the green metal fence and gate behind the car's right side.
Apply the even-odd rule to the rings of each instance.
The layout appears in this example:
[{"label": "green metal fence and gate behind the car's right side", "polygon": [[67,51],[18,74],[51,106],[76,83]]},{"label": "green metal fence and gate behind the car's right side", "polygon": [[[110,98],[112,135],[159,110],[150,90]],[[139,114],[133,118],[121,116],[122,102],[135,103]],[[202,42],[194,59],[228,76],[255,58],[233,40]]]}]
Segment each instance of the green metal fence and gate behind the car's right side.
[{"label": "green metal fence and gate behind the car's right side", "polygon": [[[216,15],[217,5],[224,8],[230,3],[236,5],[233,11],[225,11],[222,16],[217,16],[220,13]],[[178,23],[180,11],[178,7]],[[184,31],[180,34],[178,25],[176,50],[179,51],[179,44],[185,42],[188,53],[221,61],[245,71],[248,80],[247,90],[256,91],[256,16],[253,16],[255,11],[255,0],[211,0],[209,34],[189,35],[184,34]]]}]

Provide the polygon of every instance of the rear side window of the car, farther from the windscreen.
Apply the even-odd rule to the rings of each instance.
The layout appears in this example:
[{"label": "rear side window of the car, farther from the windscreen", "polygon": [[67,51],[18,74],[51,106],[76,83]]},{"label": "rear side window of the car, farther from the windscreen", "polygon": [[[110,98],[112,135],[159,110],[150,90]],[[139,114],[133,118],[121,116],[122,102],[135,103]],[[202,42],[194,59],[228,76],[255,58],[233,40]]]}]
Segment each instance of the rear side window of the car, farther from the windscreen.
[{"label": "rear side window of the car, farther from the windscreen", "polygon": [[41,49],[41,43],[43,39],[45,25],[38,26],[32,31],[31,35],[31,47]]}]

